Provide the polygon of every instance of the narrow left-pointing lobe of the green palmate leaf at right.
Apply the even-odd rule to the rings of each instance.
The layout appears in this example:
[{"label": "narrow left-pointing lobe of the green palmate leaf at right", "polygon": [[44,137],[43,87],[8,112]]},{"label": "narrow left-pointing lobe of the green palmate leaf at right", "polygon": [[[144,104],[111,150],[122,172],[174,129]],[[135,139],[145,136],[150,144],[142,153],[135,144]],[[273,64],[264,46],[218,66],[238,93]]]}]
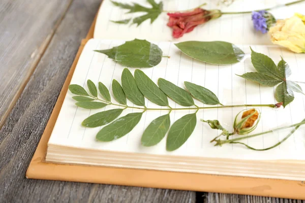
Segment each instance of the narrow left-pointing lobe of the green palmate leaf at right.
[{"label": "narrow left-pointing lobe of the green palmate leaf at right", "polygon": [[[239,75],[237,75],[237,76],[239,76]],[[265,86],[269,86],[269,87],[273,87],[273,86],[283,82],[283,80],[281,80],[281,79],[273,78],[271,76],[267,76],[267,75],[264,75],[261,73],[256,73],[256,72],[245,73],[239,77],[245,78],[246,80],[251,80],[251,81],[257,82],[261,85],[265,85]]]}]

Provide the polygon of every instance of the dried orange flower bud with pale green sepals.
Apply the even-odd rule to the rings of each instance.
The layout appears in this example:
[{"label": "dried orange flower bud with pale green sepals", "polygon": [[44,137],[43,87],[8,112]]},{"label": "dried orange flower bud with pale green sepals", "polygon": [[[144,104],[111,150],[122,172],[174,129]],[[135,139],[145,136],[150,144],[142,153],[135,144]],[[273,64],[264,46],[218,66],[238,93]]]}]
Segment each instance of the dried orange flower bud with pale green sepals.
[{"label": "dried orange flower bud with pale green sepals", "polygon": [[237,134],[247,134],[252,132],[260,120],[260,113],[257,109],[242,110],[234,120],[234,131]]}]

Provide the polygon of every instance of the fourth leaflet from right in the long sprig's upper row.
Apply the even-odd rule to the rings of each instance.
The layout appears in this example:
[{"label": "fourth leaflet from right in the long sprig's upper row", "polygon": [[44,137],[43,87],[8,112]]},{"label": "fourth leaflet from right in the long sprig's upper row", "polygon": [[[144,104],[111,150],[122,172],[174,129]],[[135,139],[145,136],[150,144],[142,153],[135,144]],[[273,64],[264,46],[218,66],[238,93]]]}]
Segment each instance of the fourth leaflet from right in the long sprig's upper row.
[{"label": "fourth leaflet from right in the long sprig's upper row", "polygon": [[128,69],[123,70],[121,82],[126,97],[135,105],[144,106],[144,96],[137,87],[136,81]]}]

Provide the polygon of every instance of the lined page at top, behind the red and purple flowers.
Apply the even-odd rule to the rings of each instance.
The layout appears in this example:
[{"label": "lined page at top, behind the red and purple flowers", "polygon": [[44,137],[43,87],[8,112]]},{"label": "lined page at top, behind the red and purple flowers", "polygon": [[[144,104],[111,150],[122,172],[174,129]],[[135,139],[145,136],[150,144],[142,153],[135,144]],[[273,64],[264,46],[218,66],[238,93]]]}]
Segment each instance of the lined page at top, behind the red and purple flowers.
[{"label": "lined page at top, behind the red and purple flowers", "polygon": [[[146,0],[117,0],[118,2],[131,3],[137,2],[141,5],[147,4]],[[159,2],[157,0],[157,2]],[[292,0],[235,0],[229,6],[218,6],[218,0],[164,0],[164,10],[178,11],[193,9],[203,3],[207,3],[204,9],[221,9],[223,12],[253,11],[264,8],[270,8],[292,2]],[[294,12],[302,13],[305,8],[305,2],[289,7],[279,7],[273,9],[271,13],[277,19],[290,18]],[[112,5],[109,0],[104,0],[99,11],[94,38],[115,39],[115,40],[133,40],[146,39],[155,41],[215,41],[222,40],[233,44],[257,44],[271,45],[267,34],[254,31],[251,14],[224,15],[219,19],[211,20],[204,25],[197,26],[192,32],[186,33],[179,39],[172,38],[172,30],[166,24],[168,16],[162,13],[153,24],[150,20],[144,21],[140,26],[116,24],[110,20],[121,20],[142,15],[141,13],[126,14],[128,10],[123,10]]]}]

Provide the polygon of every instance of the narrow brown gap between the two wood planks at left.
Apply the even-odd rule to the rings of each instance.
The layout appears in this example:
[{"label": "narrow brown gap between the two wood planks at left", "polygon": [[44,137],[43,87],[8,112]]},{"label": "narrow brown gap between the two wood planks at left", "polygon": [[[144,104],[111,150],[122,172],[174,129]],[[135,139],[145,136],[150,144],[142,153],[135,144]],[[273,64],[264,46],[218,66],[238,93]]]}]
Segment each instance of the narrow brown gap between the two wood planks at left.
[{"label": "narrow brown gap between the two wood planks at left", "polygon": [[21,93],[23,92],[26,84],[28,83],[29,79],[31,78],[31,76],[33,75],[34,71],[36,70],[36,67],[38,65],[38,63],[40,62],[42,56],[44,55],[45,51],[47,50],[50,42],[52,41],[55,32],[57,30],[57,28],[59,27],[60,23],[62,23],[62,21],[64,20],[69,8],[72,5],[73,0],[70,0],[69,4],[67,5],[67,8],[64,10],[62,16],[60,16],[60,18],[56,21],[54,27],[51,29],[49,35],[46,37],[46,39],[42,42],[42,44],[40,45],[40,47],[38,49],[36,49],[32,55],[31,58],[33,59],[33,62],[31,64],[31,66],[29,67],[24,79],[22,80],[18,90],[16,91],[16,94],[14,95],[11,103],[9,104],[7,110],[4,112],[4,115],[2,118],[0,118],[0,129],[3,127],[3,125],[5,124],[8,116],[10,115],[11,111],[13,110],[13,108],[15,107],[17,100],[19,99]]}]

